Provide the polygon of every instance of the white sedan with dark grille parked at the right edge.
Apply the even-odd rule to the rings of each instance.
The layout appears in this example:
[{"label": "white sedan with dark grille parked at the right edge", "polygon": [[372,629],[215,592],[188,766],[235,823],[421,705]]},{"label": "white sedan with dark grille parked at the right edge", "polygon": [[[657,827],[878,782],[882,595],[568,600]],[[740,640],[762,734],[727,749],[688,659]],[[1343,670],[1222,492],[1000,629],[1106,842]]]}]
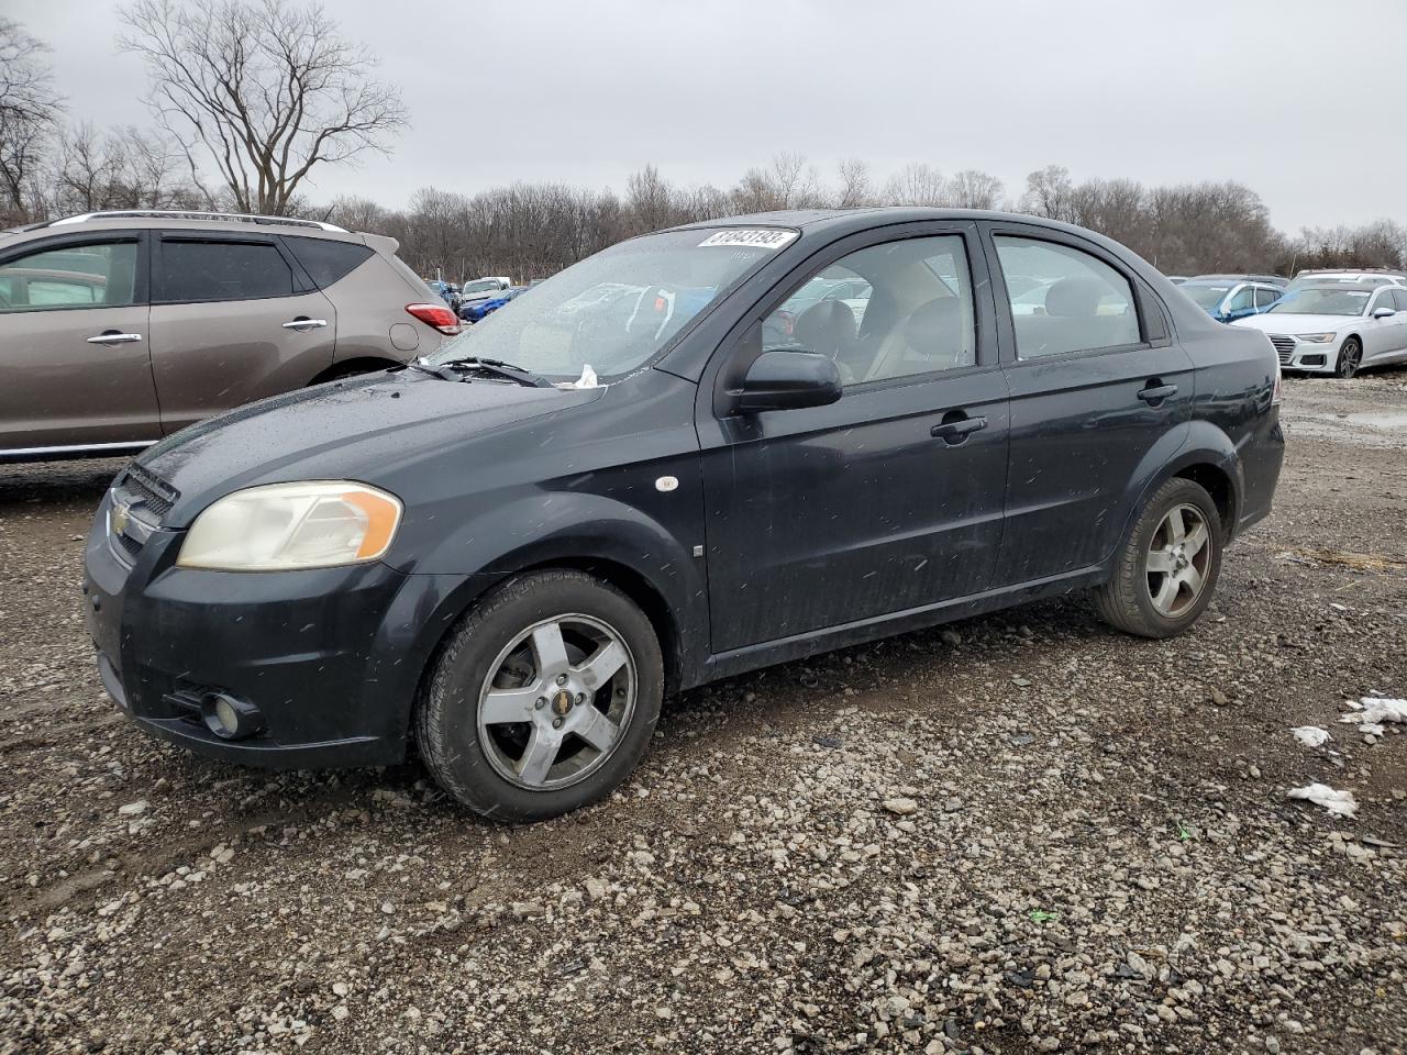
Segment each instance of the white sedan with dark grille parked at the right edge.
[{"label": "white sedan with dark grille parked at the right edge", "polygon": [[1352,377],[1363,367],[1407,362],[1407,287],[1301,286],[1231,325],[1269,336],[1283,370]]}]

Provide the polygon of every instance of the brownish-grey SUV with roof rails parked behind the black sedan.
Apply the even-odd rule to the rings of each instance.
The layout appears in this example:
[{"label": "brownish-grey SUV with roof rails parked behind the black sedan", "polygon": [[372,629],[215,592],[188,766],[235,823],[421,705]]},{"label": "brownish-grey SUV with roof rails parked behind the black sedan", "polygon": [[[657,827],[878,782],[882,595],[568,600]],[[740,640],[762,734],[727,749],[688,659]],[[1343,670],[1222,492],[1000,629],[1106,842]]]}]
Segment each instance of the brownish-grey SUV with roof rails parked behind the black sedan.
[{"label": "brownish-grey SUV with roof rails parked behind the black sedan", "polygon": [[395,249],[225,212],[0,232],[0,461],[136,452],[252,399],[433,352],[459,319]]}]

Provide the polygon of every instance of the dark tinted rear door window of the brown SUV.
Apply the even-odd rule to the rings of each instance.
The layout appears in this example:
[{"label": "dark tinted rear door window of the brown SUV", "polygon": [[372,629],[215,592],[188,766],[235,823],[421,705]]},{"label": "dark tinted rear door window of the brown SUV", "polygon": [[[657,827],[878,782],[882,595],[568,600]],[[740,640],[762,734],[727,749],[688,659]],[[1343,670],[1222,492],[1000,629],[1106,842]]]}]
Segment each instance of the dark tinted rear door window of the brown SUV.
[{"label": "dark tinted rear door window of the brown SUV", "polygon": [[243,301],[293,294],[293,269],[272,242],[162,239],[162,300]]}]

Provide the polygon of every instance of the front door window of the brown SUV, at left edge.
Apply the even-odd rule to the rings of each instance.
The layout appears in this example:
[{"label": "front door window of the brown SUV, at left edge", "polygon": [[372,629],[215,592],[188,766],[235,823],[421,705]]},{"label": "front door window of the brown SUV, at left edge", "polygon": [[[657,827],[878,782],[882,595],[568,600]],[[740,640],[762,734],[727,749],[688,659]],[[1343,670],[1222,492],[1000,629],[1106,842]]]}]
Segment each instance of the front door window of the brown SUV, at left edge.
[{"label": "front door window of the brown SUV, at left edge", "polygon": [[0,312],[134,302],[136,242],[41,249],[0,264]]}]

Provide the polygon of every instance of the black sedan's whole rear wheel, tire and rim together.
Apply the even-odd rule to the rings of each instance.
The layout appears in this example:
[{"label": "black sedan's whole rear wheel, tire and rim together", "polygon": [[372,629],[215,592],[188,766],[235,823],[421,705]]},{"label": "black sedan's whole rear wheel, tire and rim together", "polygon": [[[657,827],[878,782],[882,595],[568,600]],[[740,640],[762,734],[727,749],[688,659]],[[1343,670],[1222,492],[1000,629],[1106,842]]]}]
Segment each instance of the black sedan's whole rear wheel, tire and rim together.
[{"label": "black sedan's whole rear wheel, tire and rim together", "polygon": [[[1182,523],[1180,540],[1176,520]],[[1204,529],[1200,544],[1193,543],[1197,522]],[[1140,637],[1180,634],[1211,602],[1224,536],[1211,495],[1190,480],[1169,480],[1148,499],[1120,544],[1113,578],[1095,589],[1099,615]]]}]

